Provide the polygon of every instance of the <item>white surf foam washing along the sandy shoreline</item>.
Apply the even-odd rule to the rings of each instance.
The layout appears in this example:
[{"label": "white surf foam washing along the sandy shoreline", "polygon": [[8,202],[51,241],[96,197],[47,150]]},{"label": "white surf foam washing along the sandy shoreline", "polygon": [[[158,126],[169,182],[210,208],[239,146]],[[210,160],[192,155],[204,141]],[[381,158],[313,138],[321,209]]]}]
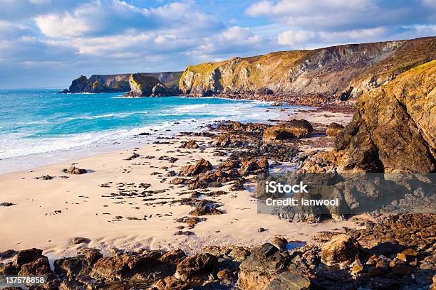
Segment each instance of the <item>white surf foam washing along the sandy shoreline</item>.
[{"label": "white surf foam washing along the sandy shoreline", "polygon": [[[46,163],[58,162],[64,156],[71,156],[73,152],[85,156],[103,151],[114,150],[114,144],[119,143],[116,149],[137,146],[138,141],[150,142],[155,140],[157,135],[170,136],[181,131],[194,131],[198,127],[210,124],[214,121],[232,119],[239,122],[261,122],[277,117],[278,113],[266,112],[264,106],[259,102],[232,102],[224,104],[184,104],[171,109],[163,109],[158,114],[151,113],[150,116],[171,117],[171,120],[145,124],[141,127],[129,129],[109,129],[105,131],[94,131],[81,134],[68,134],[56,137],[28,138],[26,134],[4,134],[0,139],[0,173],[5,164],[10,166],[9,161],[28,160],[28,163],[17,167],[15,170],[40,166]],[[264,103],[263,103],[264,104]],[[95,116],[72,117],[71,119],[105,118],[118,117],[132,114],[147,114],[147,111],[100,114]],[[180,118],[177,118],[180,116]],[[199,117],[203,116],[203,117]],[[194,122],[193,122],[194,121]],[[171,131],[166,131],[171,129]],[[155,131],[157,130],[157,131]],[[151,135],[135,139],[134,137],[142,132],[150,132]],[[68,155],[69,153],[70,155]],[[41,159],[41,156],[44,158]],[[37,161],[36,161],[37,160]],[[41,161],[42,160],[42,161]],[[12,162],[13,163],[13,162]]]}]

